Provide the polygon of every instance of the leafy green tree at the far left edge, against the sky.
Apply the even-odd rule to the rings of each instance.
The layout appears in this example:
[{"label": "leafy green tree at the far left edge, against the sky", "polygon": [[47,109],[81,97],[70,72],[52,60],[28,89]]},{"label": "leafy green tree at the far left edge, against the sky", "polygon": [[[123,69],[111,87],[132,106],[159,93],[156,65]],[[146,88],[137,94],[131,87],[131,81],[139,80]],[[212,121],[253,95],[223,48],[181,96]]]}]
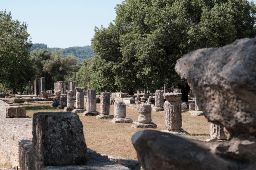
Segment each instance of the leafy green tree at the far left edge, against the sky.
[{"label": "leafy green tree at the far left edge, against the sky", "polygon": [[30,79],[27,24],[14,21],[11,12],[0,11],[0,83],[16,93]]}]

